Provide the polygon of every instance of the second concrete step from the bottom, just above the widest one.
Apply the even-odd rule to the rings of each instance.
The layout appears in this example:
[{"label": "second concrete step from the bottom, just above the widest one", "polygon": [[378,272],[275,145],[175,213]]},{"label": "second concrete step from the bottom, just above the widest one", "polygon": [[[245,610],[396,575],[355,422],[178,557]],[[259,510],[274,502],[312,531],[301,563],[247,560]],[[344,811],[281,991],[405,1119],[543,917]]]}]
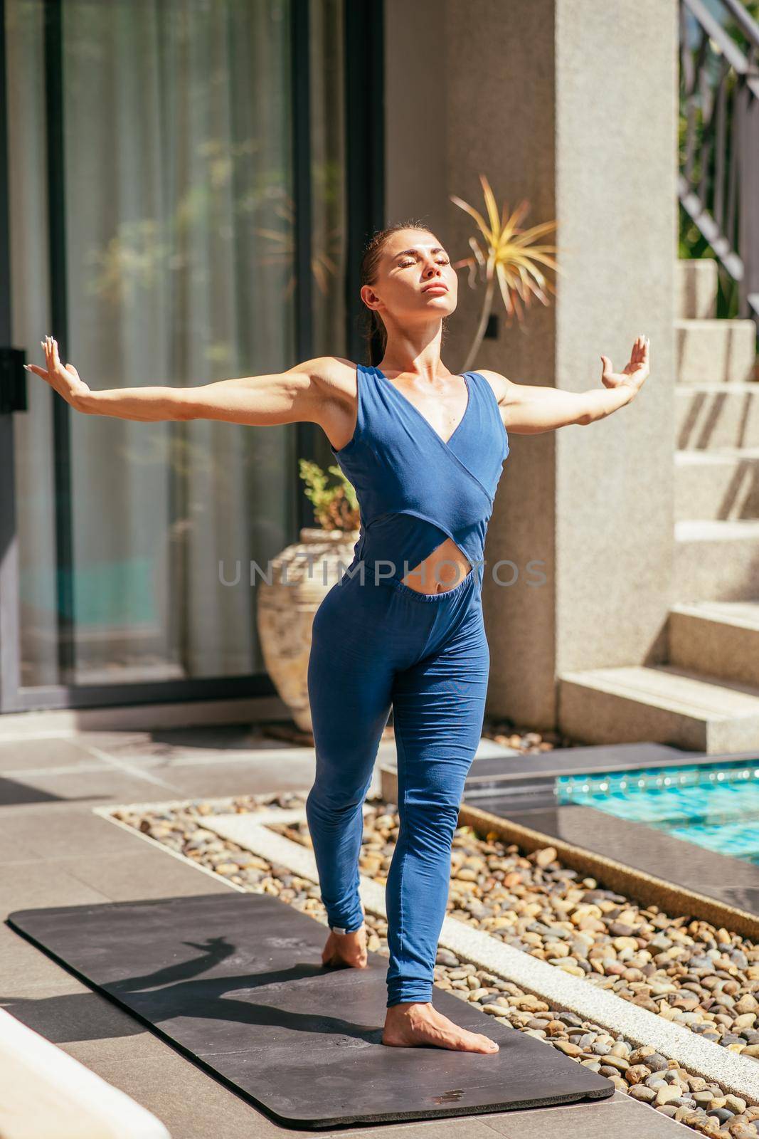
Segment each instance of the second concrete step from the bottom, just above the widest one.
[{"label": "second concrete step from the bottom, just above the widest one", "polygon": [[674,605],[669,664],[759,688],[759,597]]}]

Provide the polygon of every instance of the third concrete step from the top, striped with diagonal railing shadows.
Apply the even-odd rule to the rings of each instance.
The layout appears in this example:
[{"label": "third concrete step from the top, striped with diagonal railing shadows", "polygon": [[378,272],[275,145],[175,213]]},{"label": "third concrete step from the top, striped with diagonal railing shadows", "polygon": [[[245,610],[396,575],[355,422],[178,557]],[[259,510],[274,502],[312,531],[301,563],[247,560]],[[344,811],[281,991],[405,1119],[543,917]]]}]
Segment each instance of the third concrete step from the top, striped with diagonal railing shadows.
[{"label": "third concrete step from the top, striped with diagonal railing shadows", "polygon": [[675,446],[759,446],[759,384],[676,384]]}]

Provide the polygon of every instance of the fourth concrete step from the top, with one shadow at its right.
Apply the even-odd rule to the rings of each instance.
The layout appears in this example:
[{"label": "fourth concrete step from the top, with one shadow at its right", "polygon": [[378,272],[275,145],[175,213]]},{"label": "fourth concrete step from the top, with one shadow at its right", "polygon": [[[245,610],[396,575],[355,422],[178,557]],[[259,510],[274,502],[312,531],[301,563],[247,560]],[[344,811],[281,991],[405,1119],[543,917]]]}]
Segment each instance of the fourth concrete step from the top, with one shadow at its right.
[{"label": "fourth concrete step from the top, with one shadow at its right", "polygon": [[675,519],[759,518],[759,446],[675,452]]}]

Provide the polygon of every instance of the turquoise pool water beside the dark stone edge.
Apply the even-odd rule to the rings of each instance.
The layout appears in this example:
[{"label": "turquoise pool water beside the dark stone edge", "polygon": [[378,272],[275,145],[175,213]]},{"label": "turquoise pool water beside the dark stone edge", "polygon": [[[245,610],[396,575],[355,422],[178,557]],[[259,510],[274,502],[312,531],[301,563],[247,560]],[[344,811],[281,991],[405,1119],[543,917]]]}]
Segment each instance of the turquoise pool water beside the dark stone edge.
[{"label": "turquoise pool water beside the dark stone edge", "polygon": [[751,763],[561,776],[556,795],[560,803],[594,806],[759,866],[759,756]]}]

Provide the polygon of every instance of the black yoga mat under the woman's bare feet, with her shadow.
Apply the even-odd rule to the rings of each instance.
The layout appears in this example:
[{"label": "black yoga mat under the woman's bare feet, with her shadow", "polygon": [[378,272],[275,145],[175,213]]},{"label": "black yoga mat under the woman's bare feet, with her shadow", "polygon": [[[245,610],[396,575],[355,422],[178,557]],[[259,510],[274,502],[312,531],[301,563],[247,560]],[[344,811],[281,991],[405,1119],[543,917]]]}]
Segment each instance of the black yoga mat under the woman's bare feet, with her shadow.
[{"label": "black yoga mat under the woman's bare feet, with her shadow", "polygon": [[388,960],[327,968],[327,929],[267,894],[16,910],[8,923],[278,1122],[298,1129],[605,1099],[613,1084],[434,990],[493,1055],[380,1043]]}]

